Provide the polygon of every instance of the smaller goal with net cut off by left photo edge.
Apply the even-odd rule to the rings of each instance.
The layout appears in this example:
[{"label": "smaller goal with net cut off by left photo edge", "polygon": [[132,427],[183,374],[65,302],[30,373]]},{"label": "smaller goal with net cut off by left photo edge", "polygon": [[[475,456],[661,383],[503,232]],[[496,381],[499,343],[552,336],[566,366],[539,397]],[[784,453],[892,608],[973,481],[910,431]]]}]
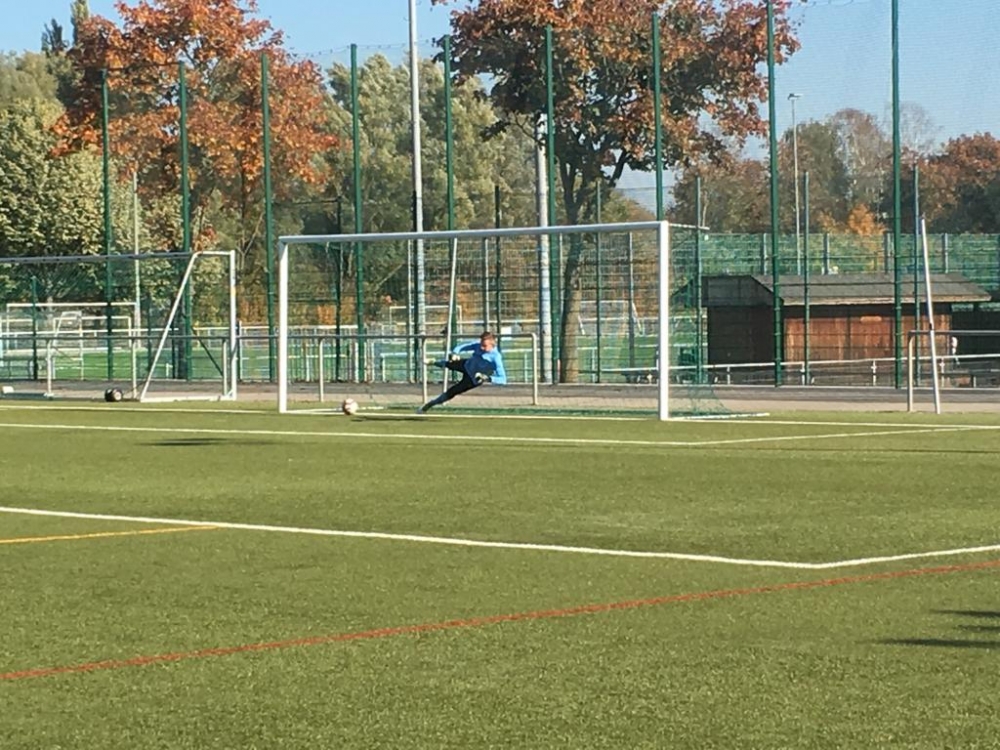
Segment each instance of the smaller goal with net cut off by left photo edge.
[{"label": "smaller goal with net cut off by left photo edge", "polygon": [[3,396],[235,396],[227,252],[0,259]]}]

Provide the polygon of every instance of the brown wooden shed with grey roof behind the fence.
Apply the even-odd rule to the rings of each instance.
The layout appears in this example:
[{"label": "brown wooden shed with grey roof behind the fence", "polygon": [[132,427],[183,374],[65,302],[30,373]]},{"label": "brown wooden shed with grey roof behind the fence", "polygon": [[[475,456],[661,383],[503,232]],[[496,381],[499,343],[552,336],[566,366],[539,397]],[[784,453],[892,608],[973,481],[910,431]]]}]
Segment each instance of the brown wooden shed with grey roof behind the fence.
[{"label": "brown wooden shed with grey roof behind the fence", "polygon": [[[774,360],[774,277],[710,276],[703,280],[708,316],[708,363],[713,365]],[[990,294],[960,274],[931,274],[934,323],[952,328],[952,305],[986,302]],[[888,273],[809,277],[809,358],[857,360],[892,357],[895,344],[894,279]],[[786,362],[805,357],[806,284],[802,276],[781,276]],[[924,285],[918,291],[924,313]],[[903,331],[916,328],[912,276],[902,288]],[[921,327],[926,327],[923,320]]]}]

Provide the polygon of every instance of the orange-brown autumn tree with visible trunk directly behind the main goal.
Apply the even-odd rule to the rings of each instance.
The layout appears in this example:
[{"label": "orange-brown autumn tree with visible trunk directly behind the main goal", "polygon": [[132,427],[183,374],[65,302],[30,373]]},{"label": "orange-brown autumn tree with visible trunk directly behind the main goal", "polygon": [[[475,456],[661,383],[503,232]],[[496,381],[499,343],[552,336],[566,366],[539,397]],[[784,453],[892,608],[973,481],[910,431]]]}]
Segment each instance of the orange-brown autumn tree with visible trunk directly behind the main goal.
[{"label": "orange-brown autumn tree with visible trunk directly behind the main goal", "polygon": [[[438,4],[455,0],[433,0]],[[789,0],[773,0],[776,58],[798,44]],[[593,216],[599,184],[654,162],[652,18],[660,13],[665,166],[712,157],[727,141],[763,135],[767,56],[760,0],[478,0],[452,12],[457,76],[486,76],[499,132],[529,132],[546,111],[545,29],[554,37],[555,158],[564,216]],[[582,247],[566,256],[560,379],[577,376]]]}]

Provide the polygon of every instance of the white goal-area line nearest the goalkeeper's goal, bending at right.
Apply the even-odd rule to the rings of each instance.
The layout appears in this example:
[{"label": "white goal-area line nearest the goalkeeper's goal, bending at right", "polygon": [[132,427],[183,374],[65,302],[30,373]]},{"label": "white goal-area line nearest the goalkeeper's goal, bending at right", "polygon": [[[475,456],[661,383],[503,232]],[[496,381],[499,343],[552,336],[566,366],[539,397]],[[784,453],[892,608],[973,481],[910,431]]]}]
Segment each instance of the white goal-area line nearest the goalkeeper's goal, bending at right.
[{"label": "white goal-area line nearest the goalkeeper's goal, bending at right", "polygon": [[327,437],[327,438],[372,438],[378,440],[445,441],[468,443],[512,443],[532,445],[584,445],[584,446],[629,446],[643,448],[706,448],[741,443],[787,442],[790,440],[828,440],[835,438],[880,437],[886,435],[912,435],[933,432],[961,432],[969,427],[925,427],[920,429],[894,429],[877,432],[836,432],[822,435],[775,435],[758,438],[731,438],[726,440],[616,440],[611,438],[559,438],[520,437],[504,435],[427,435],[421,433],[380,433],[380,432],[325,432],[310,430],[238,430],[218,427],[123,427],[116,425],[73,425],[73,424],[22,424],[0,422],[0,428],[10,430],[66,430],[76,432],[133,432],[172,435],[236,435],[240,437]]}]

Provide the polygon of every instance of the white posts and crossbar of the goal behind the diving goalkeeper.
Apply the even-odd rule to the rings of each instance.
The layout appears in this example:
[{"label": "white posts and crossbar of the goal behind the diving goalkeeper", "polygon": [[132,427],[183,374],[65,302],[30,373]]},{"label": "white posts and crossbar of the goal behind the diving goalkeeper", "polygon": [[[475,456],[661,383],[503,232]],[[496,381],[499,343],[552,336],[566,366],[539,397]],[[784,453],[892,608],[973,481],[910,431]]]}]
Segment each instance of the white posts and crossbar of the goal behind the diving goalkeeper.
[{"label": "white posts and crossbar of the goal behind the diving goalkeeper", "polygon": [[[285,235],[278,238],[278,412],[288,412],[288,254],[295,245],[326,242],[344,244],[373,242],[422,242],[451,241],[462,239],[490,239],[502,237],[551,237],[574,234],[594,234],[598,232],[654,231],[658,248],[658,317],[659,351],[670,351],[670,229],[688,227],[667,221],[624,222],[620,224],[584,224],[580,226],[515,227],[496,229],[465,229],[436,232],[387,232],[384,234],[332,234],[332,235]],[[661,358],[669,362],[669,358]],[[658,416],[660,420],[670,418],[670,398],[668,373],[657,378]]]}]

